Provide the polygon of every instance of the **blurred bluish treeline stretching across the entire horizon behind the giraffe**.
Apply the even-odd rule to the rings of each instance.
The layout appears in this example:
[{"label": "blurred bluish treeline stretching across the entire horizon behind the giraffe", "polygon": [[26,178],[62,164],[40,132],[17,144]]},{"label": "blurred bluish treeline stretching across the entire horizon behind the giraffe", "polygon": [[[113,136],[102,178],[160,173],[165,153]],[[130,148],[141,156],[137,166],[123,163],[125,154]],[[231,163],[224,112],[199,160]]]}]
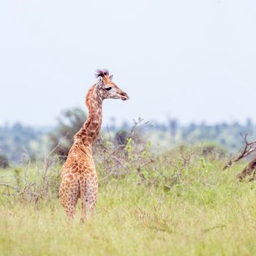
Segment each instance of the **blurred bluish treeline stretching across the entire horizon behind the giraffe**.
[{"label": "blurred bluish treeline stretching across the entire horizon behind the giraffe", "polygon": [[[50,146],[56,145],[66,132],[67,137],[72,140],[72,136],[83,124],[86,115],[83,110],[78,108],[66,110],[59,117],[59,124],[55,128],[38,129],[27,127],[22,124],[4,125],[0,127],[0,163],[1,159],[6,159],[10,163],[18,164],[26,160],[43,157],[45,151]],[[75,127],[75,128],[73,128]],[[110,122],[108,128],[103,127],[102,133],[110,132],[112,135],[118,135],[129,129],[128,122],[116,125],[114,119]],[[176,119],[169,119],[165,123],[157,121],[149,122],[143,128],[141,135],[146,135],[146,139],[151,143],[174,146],[177,143],[197,143],[198,141],[207,141],[222,146],[227,151],[237,151],[243,144],[241,134],[248,133],[249,138],[256,139],[256,126],[250,119],[246,124],[233,122],[232,124],[222,123],[208,125],[189,124],[181,125]],[[66,143],[69,147],[70,142]]]}]

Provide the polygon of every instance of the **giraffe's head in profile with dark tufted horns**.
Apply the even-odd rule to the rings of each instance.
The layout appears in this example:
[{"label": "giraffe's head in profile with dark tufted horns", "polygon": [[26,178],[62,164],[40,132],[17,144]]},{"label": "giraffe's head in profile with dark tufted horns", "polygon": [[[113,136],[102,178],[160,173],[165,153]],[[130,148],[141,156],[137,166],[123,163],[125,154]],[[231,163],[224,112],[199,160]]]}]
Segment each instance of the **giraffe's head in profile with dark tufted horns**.
[{"label": "giraffe's head in profile with dark tufted horns", "polygon": [[122,91],[116,83],[112,82],[113,75],[109,75],[107,69],[97,70],[97,91],[102,99],[122,99],[127,100],[129,96],[126,92]]}]

